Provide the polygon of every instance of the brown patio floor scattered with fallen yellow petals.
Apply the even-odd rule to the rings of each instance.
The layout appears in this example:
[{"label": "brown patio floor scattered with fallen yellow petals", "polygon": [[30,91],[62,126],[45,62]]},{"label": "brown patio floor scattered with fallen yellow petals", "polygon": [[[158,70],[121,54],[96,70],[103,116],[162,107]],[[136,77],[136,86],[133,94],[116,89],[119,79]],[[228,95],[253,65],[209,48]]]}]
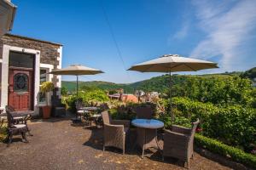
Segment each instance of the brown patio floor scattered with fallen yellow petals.
[{"label": "brown patio floor scattered with fallen yellow petals", "polygon": [[[30,143],[22,143],[20,136],[9,147],[0,143],[0,169],[184,169],[172,158],[161,161],[159,152],[142,159],[141,151],[129,145],[125,156],[113,148],[103,153],[102,129],[73,126],[67,119],[38,120],[29,127]],[[230,168],[195,154],[190,169]]]}]

